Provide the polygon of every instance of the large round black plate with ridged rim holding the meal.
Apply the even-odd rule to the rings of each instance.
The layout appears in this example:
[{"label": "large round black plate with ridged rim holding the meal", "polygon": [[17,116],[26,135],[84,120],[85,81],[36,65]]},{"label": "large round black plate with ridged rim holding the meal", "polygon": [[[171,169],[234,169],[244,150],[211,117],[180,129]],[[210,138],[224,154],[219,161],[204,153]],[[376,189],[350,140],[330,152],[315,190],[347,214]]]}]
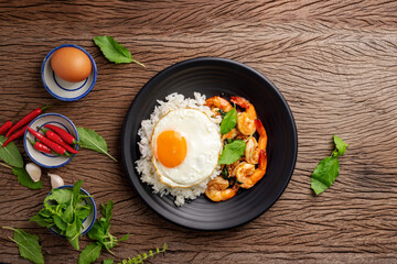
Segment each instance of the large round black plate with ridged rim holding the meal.
[{"label": "large round black plate with ridged rim holding the meal", "polygon": [[[176,207],[171,196],[160,197],[140,182],[135,168],[139,160],[138,130],[149,119],[157,100],[179,92],[212,96],[240,96],[254,103],[262,121],[268,142],[268,169],[251,189],[233,199],[213,202],[204,195]],[[132,186],[146,204],[160,216],[185,228],[224,230],[254,220],[269,209],[286,189],[294,168],[298,136],[294,120],[280,91],[255,69],[225,58],[193,58],[172,65],[149,80],[136,96],[122,130],[122,162]]]}]

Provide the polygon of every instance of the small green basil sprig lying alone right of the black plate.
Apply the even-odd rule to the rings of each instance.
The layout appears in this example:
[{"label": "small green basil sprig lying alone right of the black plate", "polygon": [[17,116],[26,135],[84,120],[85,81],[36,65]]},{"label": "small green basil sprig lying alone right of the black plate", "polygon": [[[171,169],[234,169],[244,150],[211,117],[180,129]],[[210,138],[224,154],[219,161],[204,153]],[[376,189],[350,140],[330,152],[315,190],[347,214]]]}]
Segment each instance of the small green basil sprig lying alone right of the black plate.
[{"label": "small green basil sprig lying alone right of the black plate", "polygon": [[348,146],[336,135],[333,136],[333,140],[335,150],[332,152],[332,155],[323,158],[314,168],[311,176],[311,188],[314,190],[315,195],[320,195],[333,185],[340,172],[337,157],[342,156]]}]

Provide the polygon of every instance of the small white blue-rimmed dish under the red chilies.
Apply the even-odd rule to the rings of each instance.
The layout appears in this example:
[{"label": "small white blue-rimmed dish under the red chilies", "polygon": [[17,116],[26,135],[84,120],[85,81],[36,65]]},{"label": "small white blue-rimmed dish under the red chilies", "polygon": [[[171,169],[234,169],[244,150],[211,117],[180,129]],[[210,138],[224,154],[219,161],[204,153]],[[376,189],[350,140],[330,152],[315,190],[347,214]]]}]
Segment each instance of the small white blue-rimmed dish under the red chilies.
[{"label": "small white blue-rimmed dish under the red chilies", "polygon": [[[45,124],[53,124],[60,127],[63,130],[66,130],[69,134],[72,134],[78,141],[78,132],[74,123],[60,113],[44,113],[35,118],[30,124],[29,128],[40,131],[37,128],[43,128]],[[47,154],[35,150],[29,140],[37,141],[29,131],[26,130],[23,139],[23,144],[28,156],[39,166],[46,168],[57,168],[66,165],[71,162],[71,157],[60,156],[56,154]],[[78,145],[76,145],[75,150],[78,150]],[[74,157],[73,155],[72,157]]]}]

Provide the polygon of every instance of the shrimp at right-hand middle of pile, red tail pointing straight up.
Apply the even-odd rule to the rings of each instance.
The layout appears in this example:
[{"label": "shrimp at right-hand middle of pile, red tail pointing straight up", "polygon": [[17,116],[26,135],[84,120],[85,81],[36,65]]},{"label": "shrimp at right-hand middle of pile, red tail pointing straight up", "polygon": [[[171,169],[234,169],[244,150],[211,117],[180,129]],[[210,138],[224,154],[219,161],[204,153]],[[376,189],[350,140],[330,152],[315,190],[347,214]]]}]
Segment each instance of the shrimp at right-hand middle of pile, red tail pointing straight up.
[{"label": "shrimp at right-hand middle of pile, red tail pointing straight up", "polygon": [[259,119],[255,120],[256,130],[259,134],[259,141],[257,142],[255,138],[249,138],[246,142],[246,150],[245,150],[245,160],[247,163],[250,164],[258,164],[259,161],[259,152],[266,151],[267,146],[267,133],[265,130],[264,124],[260,122]]}]

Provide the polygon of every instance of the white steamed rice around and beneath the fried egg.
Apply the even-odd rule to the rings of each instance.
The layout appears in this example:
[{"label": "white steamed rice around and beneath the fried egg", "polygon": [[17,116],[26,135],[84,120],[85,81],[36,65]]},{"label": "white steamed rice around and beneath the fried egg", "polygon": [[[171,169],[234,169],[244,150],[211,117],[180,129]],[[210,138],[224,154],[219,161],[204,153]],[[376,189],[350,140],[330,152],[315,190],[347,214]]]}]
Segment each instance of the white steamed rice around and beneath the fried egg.
[{"label": "white steamed rice around and beneath the fried egg", "polygon": [[[152,186],[154,194],[160,194],[160,196],[172,195],[175,197],[175,205],[183,206],[185,199],[193,200],[204,194],[208,180],[221,174],[221,167],[217,166],[206,180],[190,188],[175,188],[164,185],[160,182],[159,175],[155,173],[154,166],[152,164],[153,152],[150,142],[152,131],[155,123],[171,110],[194,108],[205,112],[208,117],[212,116],[212,111],[208,107],[204,106],[205,96],[198,92],[194,92],[194,99],[185,98],[183,95],[174,92],[165,97],[165,101],[158,100],[158,102],[160,106],[154,108],[150,119],[142,121],[141,128],[138,131],[138,135],[141,139],[138,143],[141,157],[139,161],[137,161],[137,170],[141,174],[141,180]],[[216,125],[217,130],[219,130],[218,124],[221,122],[221,118],[211,118],[211,120],[214,122],[214,125]]]}]

